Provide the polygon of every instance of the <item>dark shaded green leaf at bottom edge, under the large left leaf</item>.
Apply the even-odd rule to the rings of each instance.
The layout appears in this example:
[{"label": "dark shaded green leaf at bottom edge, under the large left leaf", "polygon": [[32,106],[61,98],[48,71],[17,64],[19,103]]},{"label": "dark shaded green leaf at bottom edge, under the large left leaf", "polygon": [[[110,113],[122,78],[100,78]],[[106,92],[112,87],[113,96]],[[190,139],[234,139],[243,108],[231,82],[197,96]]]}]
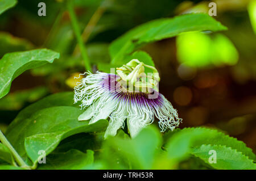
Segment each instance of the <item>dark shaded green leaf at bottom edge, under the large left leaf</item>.
[{"label": "dark shaded green leaf at bottom edge, under the large left leaf", "polygon": [[87,150],[86,154],[79,150],[69,150],[65,153],[52,153],[46,158],[46,164],[39,164],[43,170],[84,170],[92,165],[94,152]]}]

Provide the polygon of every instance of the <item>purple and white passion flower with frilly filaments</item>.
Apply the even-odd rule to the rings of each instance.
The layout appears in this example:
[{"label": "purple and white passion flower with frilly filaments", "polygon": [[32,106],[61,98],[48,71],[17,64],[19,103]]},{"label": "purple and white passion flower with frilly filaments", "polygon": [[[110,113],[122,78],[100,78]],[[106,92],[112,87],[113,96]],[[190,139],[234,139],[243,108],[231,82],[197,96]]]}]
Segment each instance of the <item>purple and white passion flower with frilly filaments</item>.
[{"label": "purple and white passion flower with frilly filaments", "polygon": [[[153,73],[144,73],[149,68]],[[158,92],[158,71],[136,59],[131,60],[117,74],[84,73],[75,87],[74,101],[81,101],[85,112],[79,121],[90,120],[89,124],[100,119],[109,119],[105,138],[115,136],[119,128],[123,128],[125,120],[131,137],[135,137],[155,117],[159,120],[161,132],[173,131],[180,123],[177,111],[172,104]]]}]

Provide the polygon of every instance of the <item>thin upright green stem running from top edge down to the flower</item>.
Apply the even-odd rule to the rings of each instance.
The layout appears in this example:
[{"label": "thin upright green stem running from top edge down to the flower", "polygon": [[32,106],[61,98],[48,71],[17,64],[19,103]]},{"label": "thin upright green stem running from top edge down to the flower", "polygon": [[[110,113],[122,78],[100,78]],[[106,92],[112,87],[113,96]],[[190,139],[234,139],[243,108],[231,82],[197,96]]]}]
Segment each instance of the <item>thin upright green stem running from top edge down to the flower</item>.
[{"label": "thin upright green stem running from top edge down to the flower", "polygon": [[90,61],[89,61],[89,58],[88,58],[88,54],[86,52],[85,45],[82,41],[80,28],[79,28],[79,23],[77,21],[76,14],[75,14],[75,11],[73,9],[73,0],[68,0],[67,1],[67,9],[68,9],[68,12],[69,12],[69,16],[71,18],[71,24],[72,24],[72,27],[73,27],[73,31],[76,35],[77,43],[79,44],[82,59],[84,59],[85,69],[92,72],[92,68],[90,66]]}]

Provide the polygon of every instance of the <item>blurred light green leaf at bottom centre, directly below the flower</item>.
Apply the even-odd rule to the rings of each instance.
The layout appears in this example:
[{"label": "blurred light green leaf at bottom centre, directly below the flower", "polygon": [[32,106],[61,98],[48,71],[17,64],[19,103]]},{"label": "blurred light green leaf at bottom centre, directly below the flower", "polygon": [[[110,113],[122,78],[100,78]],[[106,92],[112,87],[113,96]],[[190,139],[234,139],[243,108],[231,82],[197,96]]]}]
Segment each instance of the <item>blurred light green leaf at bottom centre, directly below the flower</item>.
[{"label": "blurred light green leaf at bottom centre, directly below the flower", "polygon": [[151,169],[160,144],[159,131],[154,127],[148,127],[132,140],[110,138],[103,147],[102,157],[109,169]]}]

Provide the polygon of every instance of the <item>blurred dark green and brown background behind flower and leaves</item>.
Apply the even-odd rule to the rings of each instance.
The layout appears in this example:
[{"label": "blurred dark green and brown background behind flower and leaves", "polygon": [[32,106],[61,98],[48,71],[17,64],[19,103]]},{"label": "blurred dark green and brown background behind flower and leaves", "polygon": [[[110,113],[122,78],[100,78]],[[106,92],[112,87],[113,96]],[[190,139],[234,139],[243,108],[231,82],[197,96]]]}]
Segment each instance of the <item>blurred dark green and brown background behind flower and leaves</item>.
[{"label": "blurred dark green and brown background behind flower and leaves", "polygon": [[[255,153],[256,1],[74,1],[94,71],[98,62],[110,61],[109,43],[131,28],[152,19],[208,13],[209,2],[215,2],[214,18],[228,31],[184,33],[141,49],[155,61],[159,91],[183,118],[180,128],[220,128]],[[28,104],[55,92],[72,91],[73,77],[85,71],[64,3],[44,0],[46,16],[38,16],[39,2],[20,0],[0,16],[0,57],[42,47],[60,52],[61,57],[13,81],[10,94],[0,100],[3,131]]]}]

